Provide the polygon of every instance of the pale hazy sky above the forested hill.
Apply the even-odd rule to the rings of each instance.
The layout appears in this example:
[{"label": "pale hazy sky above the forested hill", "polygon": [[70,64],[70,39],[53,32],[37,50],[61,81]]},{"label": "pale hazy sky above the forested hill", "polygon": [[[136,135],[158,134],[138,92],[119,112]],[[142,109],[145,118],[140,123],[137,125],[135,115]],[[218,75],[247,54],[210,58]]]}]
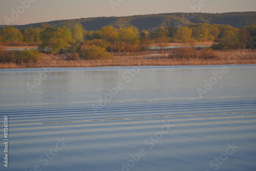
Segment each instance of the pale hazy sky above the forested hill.
[{"label": "pale hazy sky above the forested hill", "polygon": [[[20,2],[26,2],[28,8],[22,7]],[[200,2],[202,7],[194,11],[256,11],[256,0],[0,0],[0,25],[6,25],[5,19],[10,25],[24,25],[97,16],[190,12],[190,6]],[[19,16],[15,15],[16,12]]]}]

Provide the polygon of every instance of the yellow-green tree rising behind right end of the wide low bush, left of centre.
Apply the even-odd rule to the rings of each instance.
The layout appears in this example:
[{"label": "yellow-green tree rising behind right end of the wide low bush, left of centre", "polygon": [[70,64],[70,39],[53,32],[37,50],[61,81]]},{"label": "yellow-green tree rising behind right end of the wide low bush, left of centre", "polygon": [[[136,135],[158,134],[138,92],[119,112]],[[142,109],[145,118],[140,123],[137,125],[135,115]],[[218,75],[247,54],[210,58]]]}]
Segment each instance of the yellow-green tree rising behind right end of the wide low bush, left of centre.
[{"label": "yellow-green tree rising behind right end of the wide low bush, left of centre", "polygon": [[101,28],[102,39],[106,42],[107,50],[110,52],[114,43],[118,40],[118,29],[113,26]]}]

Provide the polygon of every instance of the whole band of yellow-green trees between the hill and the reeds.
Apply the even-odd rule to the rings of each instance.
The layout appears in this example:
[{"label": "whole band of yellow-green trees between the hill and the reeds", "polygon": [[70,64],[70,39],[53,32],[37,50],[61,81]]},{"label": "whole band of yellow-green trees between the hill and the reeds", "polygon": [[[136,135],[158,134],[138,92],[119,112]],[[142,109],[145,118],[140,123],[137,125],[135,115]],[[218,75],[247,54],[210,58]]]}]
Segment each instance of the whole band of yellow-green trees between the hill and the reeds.
[{"label": "whole band of yellow-green trees between the hill and the reeds", "polygon": [[86,31],[80,24],[72,28],[50,27],[43,23],[39,28],[27,28],[20,32],[10,26],[0,31],[0,43],[7,46],[39,46],[48,48],[52,54],[60,51],[79,52],[82,47],[98,47],[108,52],[147,51],[152,44],[161,51],[168,42],[195,43],[216,41],[213,49],[228,50],[255,48],[256,25],[240,29],[229,25],[197,24],[175,27],[159,27],[151,32],[136,27],[102,27],[97,31]]}]

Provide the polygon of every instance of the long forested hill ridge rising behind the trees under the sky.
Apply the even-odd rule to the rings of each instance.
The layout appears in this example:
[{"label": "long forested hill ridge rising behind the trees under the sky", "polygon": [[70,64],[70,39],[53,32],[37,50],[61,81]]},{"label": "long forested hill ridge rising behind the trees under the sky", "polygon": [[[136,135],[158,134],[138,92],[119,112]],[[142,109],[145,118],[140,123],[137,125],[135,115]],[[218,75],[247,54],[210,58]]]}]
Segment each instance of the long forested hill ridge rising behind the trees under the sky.
[{"label": "long forested hill ridge rising behind the trees under the sky", "polygon": [[[164,13],[149,15],[134,15],[125,17],[94,17],[68,20],[55,20],[48,22],[53,27],[81,24],[87,31],[100,30],[103,26],[131,27],[135,26],[139,30],[153,30],[160,26],[184,26],[199,23],[230,25],[241,28],[243,26],[256,25],[256,12],[229,12],[229,13]],[[19,30],[24,28],[40,27],[41,23],[14,26]]]}]

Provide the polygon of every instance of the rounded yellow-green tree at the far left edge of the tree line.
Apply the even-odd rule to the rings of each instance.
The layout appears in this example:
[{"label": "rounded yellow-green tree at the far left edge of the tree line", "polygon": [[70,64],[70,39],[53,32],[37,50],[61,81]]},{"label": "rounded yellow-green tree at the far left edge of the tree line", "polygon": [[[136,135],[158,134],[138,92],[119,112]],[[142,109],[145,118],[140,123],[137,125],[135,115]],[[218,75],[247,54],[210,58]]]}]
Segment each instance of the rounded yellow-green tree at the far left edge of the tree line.
[{"label": "rounded yellow-green tree at the far left edge of the tree line", "polygon": [[23,35],[20,31],[12,26],[2,29],[2,36],[5,42],[22,41]]}]

